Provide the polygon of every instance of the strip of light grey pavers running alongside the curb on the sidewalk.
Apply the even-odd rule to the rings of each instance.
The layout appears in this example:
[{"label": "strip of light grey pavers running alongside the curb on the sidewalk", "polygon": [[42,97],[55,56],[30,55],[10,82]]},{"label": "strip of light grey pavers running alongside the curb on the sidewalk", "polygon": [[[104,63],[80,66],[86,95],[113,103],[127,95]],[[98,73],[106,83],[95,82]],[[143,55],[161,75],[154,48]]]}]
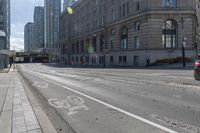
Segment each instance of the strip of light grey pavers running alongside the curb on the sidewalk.
[{"label": "strip of light grey pavers running alongside the curb on the sidewalk", "polygon": [[25,89],[16,77],[13,101],[13,133],[42,133]]}]

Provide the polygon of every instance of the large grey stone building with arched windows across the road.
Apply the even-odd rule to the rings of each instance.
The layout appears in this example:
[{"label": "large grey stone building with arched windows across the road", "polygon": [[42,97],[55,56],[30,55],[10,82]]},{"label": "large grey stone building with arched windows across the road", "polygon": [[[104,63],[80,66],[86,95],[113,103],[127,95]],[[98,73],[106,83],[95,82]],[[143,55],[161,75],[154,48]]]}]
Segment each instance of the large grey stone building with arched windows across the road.
[{"label": "large grey stone building with arched windows across the road", "polygon": [[145,66],[199,52],[199,0],[79,0],[60,17],[66,64]]}]

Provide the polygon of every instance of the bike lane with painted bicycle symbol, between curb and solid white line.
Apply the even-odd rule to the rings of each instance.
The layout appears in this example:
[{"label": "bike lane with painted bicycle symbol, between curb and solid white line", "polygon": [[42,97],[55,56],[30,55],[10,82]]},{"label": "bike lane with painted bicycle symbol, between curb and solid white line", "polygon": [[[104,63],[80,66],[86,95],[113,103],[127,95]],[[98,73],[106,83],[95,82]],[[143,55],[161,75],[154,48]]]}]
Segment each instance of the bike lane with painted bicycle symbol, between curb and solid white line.
[{"label": "bike lane with painted bicycle symbol, between curb and solid white line", "polygon": [[[52,82],[42,75],[33,72],[23,72],[44,97],[48,104],[69,123],[77,133],[165,133],[173,130],[162,130],[144,121],[134,119],[112,106],[109,101],[98,101],[87,95],[76,93],[66,85]],[[81,88],[79,88],[81,90]],[[162,126],[161,126],[162,127]],[[168,129],[168,128],[166,128]]]}]

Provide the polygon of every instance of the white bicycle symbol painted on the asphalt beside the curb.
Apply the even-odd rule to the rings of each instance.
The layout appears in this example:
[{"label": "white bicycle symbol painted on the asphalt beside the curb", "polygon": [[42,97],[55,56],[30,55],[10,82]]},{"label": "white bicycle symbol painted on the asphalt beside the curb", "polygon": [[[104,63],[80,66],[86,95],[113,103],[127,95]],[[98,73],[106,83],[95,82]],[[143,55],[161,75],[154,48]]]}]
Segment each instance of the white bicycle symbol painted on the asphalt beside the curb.
[{"label": "white bicycle symbol painted on the asphalt beside the curb", "polygon": [[67,96],[65,100],[58,100],[56,98],[51,98],[48,103],[55,108],[64,108],[68,111],[68,115],[74,115],[78,113],[78,110],[84,109],[89,110],[90,108],[85,105],[83,98],[77,96]]}]

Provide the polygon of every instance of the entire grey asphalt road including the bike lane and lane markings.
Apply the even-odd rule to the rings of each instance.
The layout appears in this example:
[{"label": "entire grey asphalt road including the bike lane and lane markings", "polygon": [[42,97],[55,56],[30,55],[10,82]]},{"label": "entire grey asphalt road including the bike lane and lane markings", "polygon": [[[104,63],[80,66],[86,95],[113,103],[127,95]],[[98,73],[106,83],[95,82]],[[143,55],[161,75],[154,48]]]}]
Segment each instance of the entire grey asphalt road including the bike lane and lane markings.
[{"label": "entire grey asphalt road including the bike lane and lane markings", "polygon": [[77,133],[200,133],[192,70],[19,66]]}]

